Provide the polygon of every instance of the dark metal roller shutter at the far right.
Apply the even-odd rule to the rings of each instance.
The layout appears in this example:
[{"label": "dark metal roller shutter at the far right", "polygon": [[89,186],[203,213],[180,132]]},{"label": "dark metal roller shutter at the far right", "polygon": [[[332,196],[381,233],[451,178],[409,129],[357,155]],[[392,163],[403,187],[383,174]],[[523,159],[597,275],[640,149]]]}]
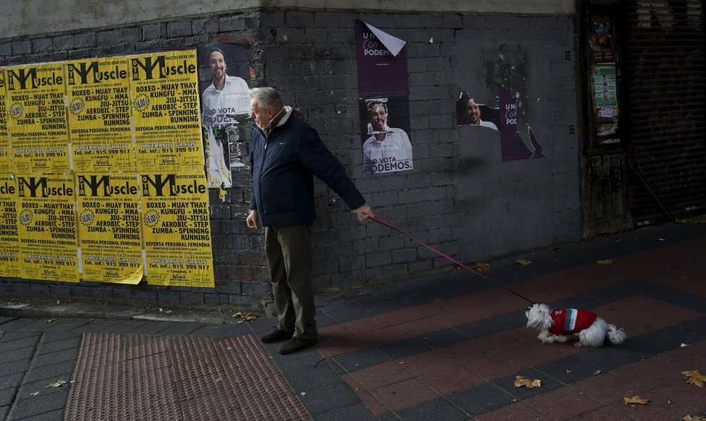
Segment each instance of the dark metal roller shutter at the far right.
[{"label": "dark metal roller shutter at the far right", "polygon": [[638,226],[704,212],[706,36],[701,0],[625,1],[630,212]]}]

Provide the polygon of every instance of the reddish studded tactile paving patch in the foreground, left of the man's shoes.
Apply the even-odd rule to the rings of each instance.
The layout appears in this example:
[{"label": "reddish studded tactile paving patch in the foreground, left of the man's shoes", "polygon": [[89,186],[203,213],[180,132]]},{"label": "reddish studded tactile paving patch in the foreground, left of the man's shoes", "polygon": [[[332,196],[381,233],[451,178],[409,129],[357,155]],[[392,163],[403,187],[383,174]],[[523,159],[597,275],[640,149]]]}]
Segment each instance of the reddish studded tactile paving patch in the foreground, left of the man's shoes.
[{"label": "reddish studded tactile paving patch in the foreground, left of the man's shoes", "polygon": [[64,420],[309,420],[254,335],[86,333]]}]

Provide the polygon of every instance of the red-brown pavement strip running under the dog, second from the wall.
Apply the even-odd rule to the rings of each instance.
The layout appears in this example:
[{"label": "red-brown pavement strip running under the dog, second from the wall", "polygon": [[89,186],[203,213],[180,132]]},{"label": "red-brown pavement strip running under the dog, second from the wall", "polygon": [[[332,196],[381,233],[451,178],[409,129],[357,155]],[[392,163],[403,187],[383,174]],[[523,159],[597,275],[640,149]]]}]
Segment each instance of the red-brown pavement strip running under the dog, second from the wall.
[{"label": "red-brown pavement strip running under the dog, second from the wall", "polygon": [[[663,317],[655,315],[641,319],[645,316],[645,311],[653,309],[661,309]],[[616,314],[618,310],[622,316],[615,320],[608,318],[609,321],[615,323],[618,323],[618,320],[635,321],[634,325],[626,323],[635,331],[639,331],[635,334],[657,331],[702,314],[648,296],[632,296],[596,308],[596,312],[601,316],[604,313],[610,313],[610,310],[614,310],[612,316],[618,316]],[[658,314],[660,313],[657,312]],[[618,324],[622,326],[623,323]],[[536,333],[535,330],[528,328],[503,331],[357,370],[344,375],[344,380],[357,391],[361,400],[369,407],[394,410],[392,408],[404,407],[400,406],[401,402],[411,402],[410,406],[416,405],[437,395],[471,388],[479,384],[479,378],[484,381],[495,380],[591,349],[578,348],[569,344],[543,345],[536,339]],[[628,331],[628,335],[631,334]],[[435,387],[434,380],[442,378],[444,373],[449,373],[459,366],[473,375],[466,378],[452,377],[449,381],[441,383],[439,388]],[[632,365],[628,365],[630,366]],[[690,368],[684,370],[690,370]],[[415,379],[419,380],[414,381]],[[426,385],[429,390],[422,393],[421,385]],[[359,393],[361,390],[365,390],[366,393]],[[379,400],[381,405],[377,405],[371,399]],[[376,413],[376,415],[382,415],[382,413]]]}]

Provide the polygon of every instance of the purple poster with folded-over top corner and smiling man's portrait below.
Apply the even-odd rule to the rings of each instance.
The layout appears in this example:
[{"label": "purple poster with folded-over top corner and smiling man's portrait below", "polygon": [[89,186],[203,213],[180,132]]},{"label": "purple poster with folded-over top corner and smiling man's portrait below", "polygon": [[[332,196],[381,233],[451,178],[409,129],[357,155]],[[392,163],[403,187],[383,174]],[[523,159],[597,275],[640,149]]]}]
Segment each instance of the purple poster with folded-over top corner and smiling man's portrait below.
[{"label": "purple poster with folded-over top corner and smiling man's portrait below", "polygon": [[405,41],[356,19],[363,172],[414,169]]}]

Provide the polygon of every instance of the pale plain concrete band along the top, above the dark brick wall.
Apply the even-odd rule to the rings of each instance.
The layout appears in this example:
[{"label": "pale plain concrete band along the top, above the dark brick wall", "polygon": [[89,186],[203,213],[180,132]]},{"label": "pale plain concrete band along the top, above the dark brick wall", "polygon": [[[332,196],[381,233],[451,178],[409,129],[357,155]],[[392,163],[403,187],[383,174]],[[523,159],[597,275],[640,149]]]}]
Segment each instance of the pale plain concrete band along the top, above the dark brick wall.
[{"label": "pale plain concrete band along the top, above the dark brick wall", "polygon": [[0,17],[0,39],[137,22],[230,14],[251,9],[312,9],[459,13],[573,14],[572,0],[25,0],[6,1]]}]

